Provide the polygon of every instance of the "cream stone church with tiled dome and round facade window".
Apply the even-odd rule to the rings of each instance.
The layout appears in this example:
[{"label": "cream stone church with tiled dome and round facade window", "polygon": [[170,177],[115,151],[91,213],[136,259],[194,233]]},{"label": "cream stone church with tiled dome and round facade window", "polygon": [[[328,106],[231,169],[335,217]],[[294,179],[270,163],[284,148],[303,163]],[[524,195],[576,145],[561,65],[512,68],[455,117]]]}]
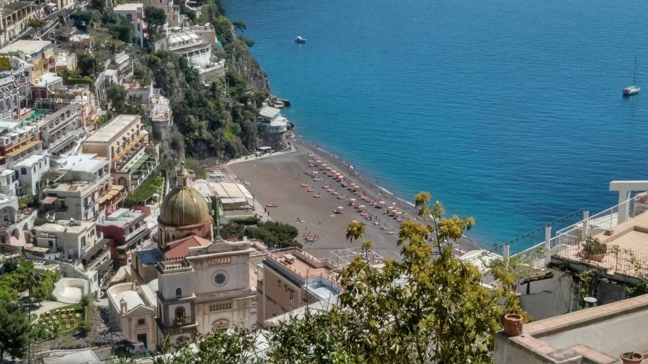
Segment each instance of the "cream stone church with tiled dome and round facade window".
[{"label": "cream stone church with tiled dome and round facade window", "polygon": [[[158,247],[133,252],[131,262],[132,280],[156,288],[149,304],[155,305],[157,343],[167,336],[171,342],[189,339],[214,327],[252,328],[257,290],[249,256],[255,249],[248,241],[214,240],[205,198],[191,187],[184,166],[176,177],[176,187],[160,206]],[[122,331],[132,331],[127,329]]]}]

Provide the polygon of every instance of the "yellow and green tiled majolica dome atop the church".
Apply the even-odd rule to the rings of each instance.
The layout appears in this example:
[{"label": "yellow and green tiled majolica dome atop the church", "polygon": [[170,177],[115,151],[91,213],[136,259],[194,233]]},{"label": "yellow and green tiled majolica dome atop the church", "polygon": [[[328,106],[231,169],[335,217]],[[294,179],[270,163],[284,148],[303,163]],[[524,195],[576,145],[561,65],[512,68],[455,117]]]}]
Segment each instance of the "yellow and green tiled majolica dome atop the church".
[{"label": "yellow and green tiled majolica dome atop the church", "polygon": [[173,227],[211,223],[209,206],[202,194],[189,186],[189,173],[184,166],[180,167],[176,176],[178,185],[162,201],[159,222]]}]

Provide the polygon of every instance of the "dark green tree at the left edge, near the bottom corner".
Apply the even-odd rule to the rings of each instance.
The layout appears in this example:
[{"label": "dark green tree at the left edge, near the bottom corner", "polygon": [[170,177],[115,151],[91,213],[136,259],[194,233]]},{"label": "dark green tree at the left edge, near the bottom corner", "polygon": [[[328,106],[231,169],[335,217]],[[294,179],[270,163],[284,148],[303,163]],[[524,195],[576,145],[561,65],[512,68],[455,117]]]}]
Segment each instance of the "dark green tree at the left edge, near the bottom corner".
[{"label": "dark green tree at the left edge, near the bottom corner", "polygon": [[20,307],[12,302],[0,300],[0,362],[5,353],[21,358],[29,345],[29,319]]}]

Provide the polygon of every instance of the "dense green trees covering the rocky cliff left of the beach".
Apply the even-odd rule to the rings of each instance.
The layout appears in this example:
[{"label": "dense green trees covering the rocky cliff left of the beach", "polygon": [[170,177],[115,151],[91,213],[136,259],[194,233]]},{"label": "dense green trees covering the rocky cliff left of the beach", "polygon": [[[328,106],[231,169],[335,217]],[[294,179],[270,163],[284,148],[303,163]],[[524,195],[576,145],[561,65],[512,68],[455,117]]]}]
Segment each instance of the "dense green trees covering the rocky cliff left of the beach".
[{"label": "dense green trees covering the rocky cliff left of the beach", "polygon": [[152,54],[148,62],[156,85],[170,98],[179,131],[172,134],[173,150],[233,158],[256,148],[255,120],[266,94],[251,88],[242,74],[228,69],[226,78],[205,85],[196,69],[172,52]]}]

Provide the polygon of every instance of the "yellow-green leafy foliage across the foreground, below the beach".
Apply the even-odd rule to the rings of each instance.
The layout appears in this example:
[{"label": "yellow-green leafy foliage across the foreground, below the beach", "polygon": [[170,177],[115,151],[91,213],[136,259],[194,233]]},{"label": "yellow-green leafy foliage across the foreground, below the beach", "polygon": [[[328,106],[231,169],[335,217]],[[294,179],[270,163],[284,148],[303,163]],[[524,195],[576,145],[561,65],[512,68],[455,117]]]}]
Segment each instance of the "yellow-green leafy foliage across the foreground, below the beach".
[{"label": "yellow-green leafy foliage across the foreground, below the beach", "polygon": [[[196,350],[181,344],[180,355],[158,356],[157,363],[492,363],[494,333],[503,315],[498,301],[515,292],[506,286],[486,290],[476,267],[452,256],[452,240],[472,226],[472,219],[446,219],[440,203],[428,205],[429,194],[417,197],[419,210],[434,212],[437,225],[404,222],[397,243],[401,260],[376,267],[365,223],[351,222],[347,239],[360,240],[364,254],[338,277],[338,304],[268,328],[264,358],[255,355],[254,335],[236,329],[227,336],[221,331],[201,336],[205,345]],[[430,245],[432,231],[444,237]],[[159,354],[169,348],[161,345]],[[241,353],[247,355],[235,356]]]}]

